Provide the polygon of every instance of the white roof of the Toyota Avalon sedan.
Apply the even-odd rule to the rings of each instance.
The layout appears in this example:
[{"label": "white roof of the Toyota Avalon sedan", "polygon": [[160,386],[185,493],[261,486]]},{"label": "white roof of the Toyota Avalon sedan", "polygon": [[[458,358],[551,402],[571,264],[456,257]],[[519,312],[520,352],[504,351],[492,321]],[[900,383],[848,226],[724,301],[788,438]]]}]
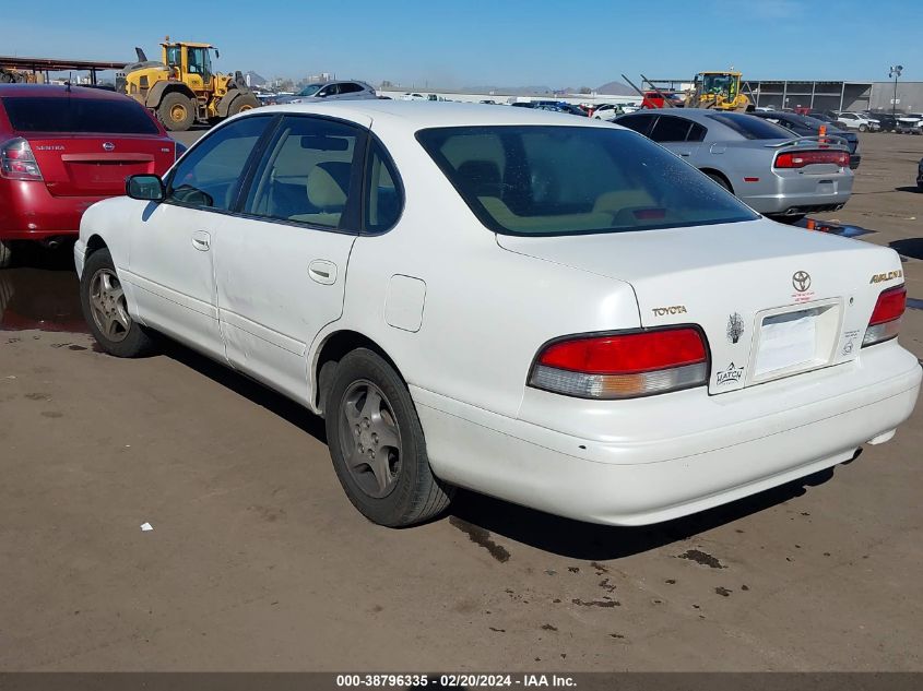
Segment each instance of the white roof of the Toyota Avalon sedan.
[{"label": "white roof of the Toyota Avalon sedan", "polygon": [[490,124],[558,124],[571,127],[613,127],[602,120],[575,118],[564,112],[534,108],[493,108],[485,104],[431,102],[431,100],[332,100],[309,104],[267,106],[248,111],[249,115],[267,112],[305,112],[342,118],[354,122],[368,119],[387,120],[393,127],[411,132],[437,127],[465,127]]}]

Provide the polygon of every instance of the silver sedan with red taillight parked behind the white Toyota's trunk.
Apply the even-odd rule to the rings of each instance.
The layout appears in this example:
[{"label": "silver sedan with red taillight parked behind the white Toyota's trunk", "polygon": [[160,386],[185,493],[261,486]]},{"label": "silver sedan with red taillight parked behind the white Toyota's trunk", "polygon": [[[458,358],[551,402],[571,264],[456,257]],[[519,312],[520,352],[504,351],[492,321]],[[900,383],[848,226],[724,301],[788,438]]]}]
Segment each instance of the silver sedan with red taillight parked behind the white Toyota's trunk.
[{"label": "silver sedan with red taillight parked behind the white Toyota's trunk", "polygon": [[777,221],[837,211],[852,194],[849,148],[838,139],[793,136],[742,112],[698,108],[643,110],[615,122],[662,144]]}]

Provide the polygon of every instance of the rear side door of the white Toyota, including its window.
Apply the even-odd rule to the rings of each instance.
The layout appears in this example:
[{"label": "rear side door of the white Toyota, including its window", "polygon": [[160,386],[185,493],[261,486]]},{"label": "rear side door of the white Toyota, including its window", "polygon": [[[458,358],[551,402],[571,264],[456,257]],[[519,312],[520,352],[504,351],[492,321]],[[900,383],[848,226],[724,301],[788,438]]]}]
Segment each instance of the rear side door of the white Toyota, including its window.
[{"label": "rear side door of the white Toyota, including its window", "polygon": [[215,261],[227,357],[304,403],[308,345],[343,312],[364,142],[352,124],[284,117],[255,170],[246,215],[222,226]]}]

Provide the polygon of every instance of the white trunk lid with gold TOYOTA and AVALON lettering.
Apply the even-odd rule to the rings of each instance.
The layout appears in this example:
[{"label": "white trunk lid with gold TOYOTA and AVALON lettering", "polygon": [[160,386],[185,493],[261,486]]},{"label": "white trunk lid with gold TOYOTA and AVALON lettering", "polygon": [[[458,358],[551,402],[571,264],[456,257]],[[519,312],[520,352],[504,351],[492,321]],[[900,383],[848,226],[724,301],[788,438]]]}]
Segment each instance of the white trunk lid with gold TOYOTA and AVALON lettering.
[{"label": "white trunk lid with gold TOYOTA and AVALON lettering", "polygon": [[643,327],[700,326],[711,394],[854,359],[877,296],[902,279],[888,249],[767,219],[498,242],[629,283]]}]

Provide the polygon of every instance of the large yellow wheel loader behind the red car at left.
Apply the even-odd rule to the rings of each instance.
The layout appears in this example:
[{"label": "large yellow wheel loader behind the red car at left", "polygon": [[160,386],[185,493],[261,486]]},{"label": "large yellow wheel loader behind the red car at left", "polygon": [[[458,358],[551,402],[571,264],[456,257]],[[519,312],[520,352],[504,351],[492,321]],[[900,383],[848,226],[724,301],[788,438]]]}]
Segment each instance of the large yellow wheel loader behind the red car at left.
[{"label": "large yellow wheel loader behind the red car at left", "polygon": [[220,55],[211,44],[170,41],[167,36],[161,47],[161,62],[147,60],[135,48],[138,62],[126,65],[116,87],[153,110],[167,130],[188,130],[197,121],[214,123],[260,105],[240,72],[212,71],[211,51],[215,58]]}]

